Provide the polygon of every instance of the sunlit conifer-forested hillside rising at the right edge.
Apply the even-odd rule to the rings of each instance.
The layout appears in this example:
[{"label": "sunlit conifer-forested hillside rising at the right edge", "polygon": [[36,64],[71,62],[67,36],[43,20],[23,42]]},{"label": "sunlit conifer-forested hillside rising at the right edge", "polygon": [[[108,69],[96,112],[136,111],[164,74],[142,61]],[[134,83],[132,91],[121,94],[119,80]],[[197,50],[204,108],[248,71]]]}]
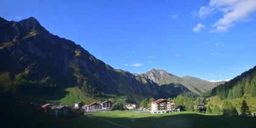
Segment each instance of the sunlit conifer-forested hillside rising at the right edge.
[{"label": "sunlit conifer-forested hillside rising at the right edge", "polygon": [[[247,113],[256,113],[256,66],[229,82],[213,88],[204,96],[210,97],[208,105],[219,105],[223,109],[225,103],[229,102],[229,107],[235,107],[235,111],[239,113],[242,113],[242,103],[246,102]],[[235,113],[231,112],[232,114]]]}]

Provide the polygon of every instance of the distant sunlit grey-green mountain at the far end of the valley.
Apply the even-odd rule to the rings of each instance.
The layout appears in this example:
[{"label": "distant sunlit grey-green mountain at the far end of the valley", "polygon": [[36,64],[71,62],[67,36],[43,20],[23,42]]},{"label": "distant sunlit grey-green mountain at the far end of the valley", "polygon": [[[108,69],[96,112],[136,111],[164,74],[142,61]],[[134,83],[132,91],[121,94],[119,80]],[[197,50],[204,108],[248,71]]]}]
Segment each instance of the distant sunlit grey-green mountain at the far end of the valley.
[{"label": "distant sunlit grey-green mountain at the far end of the valley", "polygon": [[201,94],[204,91],[211,90],[212,88],[222,84],[224,82],[209,82],[202,80],[196,77],[184,76],[178,77],[174,74],[167,73],[162,69],[151,69],[145,74],[140,74],[141,77],[145,79],[150,79],[153,82],[157,83],[159,86],[168,85],[168,84],[181,84],[184,85],[189,90],[193,91],[196,94]]}]

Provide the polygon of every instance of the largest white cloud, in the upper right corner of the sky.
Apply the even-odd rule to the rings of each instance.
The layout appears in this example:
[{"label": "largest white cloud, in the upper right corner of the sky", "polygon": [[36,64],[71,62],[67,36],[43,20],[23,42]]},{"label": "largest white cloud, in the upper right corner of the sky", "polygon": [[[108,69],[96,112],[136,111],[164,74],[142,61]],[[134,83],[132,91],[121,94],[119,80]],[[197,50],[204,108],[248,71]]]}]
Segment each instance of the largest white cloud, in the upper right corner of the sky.
[{"label": "largest white cloud, in the upper right corner of the sky", "polygon": [[225,32],[237,23],[245,21],[256,12],[255,0],[210,0],[207,6],[199,10],[199,18],[204,19],[212,13],[221,12],[222,18],[212,24],[210,32]]}]

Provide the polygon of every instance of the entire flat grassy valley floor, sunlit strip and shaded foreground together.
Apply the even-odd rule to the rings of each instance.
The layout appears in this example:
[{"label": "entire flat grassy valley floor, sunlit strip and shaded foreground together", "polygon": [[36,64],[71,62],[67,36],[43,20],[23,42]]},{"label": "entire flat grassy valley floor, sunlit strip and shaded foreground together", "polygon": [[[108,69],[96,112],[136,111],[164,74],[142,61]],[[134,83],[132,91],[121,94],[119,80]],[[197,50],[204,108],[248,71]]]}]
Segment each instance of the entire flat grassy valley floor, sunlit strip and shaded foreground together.
[{"label": "entire flat grassy valley floor, sunlit strip and shaded foreground together", "polygon": [[[191,127],[191,128],[250,128],[255,127],[256,118],[227,117],[219,115],[205,115],[193,112],[166,113],[151,115],[139,112],[98,112],[88,113],[79,118],[55,118],[47,121],[33,122],[32,127]],[[31,123],[31,122],[30,122]],[[29,126],[29,127],[30,127]]]}]

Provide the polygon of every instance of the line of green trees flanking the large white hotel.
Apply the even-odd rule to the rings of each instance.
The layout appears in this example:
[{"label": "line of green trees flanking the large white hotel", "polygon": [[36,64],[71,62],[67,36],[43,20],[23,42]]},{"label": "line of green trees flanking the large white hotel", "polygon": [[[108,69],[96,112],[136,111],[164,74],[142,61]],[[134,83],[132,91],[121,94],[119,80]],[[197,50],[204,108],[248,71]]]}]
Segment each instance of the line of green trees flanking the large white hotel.
[{"label": "line of green trees flanking the large white hotel", "polygon": [[[172,98],[168,98],[170,101]],[[221,107],[219,105],[207,104],[205,98],[198,97],[198,98],[189,98],[188,96],[178,95],[176,98],[173,98],[176,102],[176,107],[180,108],[181,111],[187,112],[205,112],[208,114],[215,114],[215,115],[225,115],[225,116],[237,116],[238,111],[236,110],[235,106],[232,104],[231,101],[224,100]],[[140,107],[143,108],[150,108],[151,102],[154,101],[154,98],[145,98],[140,102]],[[207,104],[206,106],[199,107],[200,104]],[[246,103],[243,100],[240,107],[241,115],[251,115],[251,111]]]}]

